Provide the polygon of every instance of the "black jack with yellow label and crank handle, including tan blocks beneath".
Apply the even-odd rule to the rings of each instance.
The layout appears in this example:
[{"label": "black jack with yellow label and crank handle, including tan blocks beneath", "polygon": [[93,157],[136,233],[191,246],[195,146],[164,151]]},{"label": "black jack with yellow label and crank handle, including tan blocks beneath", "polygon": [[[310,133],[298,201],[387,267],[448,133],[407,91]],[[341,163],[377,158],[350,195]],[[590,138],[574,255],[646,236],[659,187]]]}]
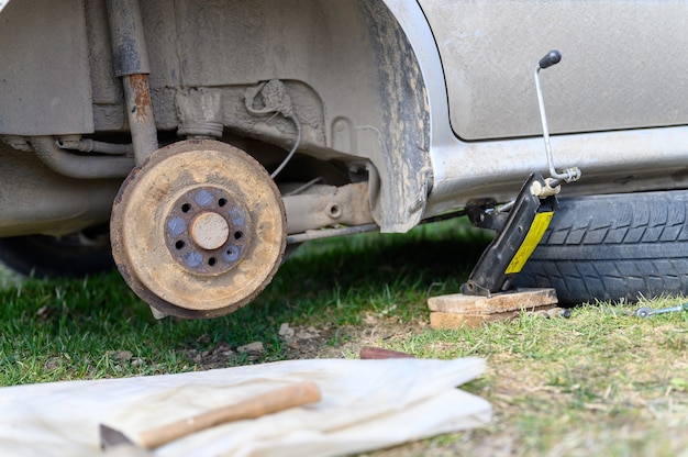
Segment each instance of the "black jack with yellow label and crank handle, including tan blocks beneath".
[{"label": "black jack with yellow label and crank handle, including tan blocks beneath", "polygon": [[535,250],[554,216],[561,183],[580,178],[578,167],[556,171],[550,145],[540,70],[556,65],[561,58],[557,51],[552,51],[537,63],[534,71],[550,178],[532,174],[517,199],[504,205],[498,207],[493,200],[467,205],[470,222],[479,227],[497,230],[497,235],[462,286],[462,293],[428,300],[433,327],[481,325],[510,319],[524,310],[550,309],[557,303],[554,289],[517,290],[513,280]]}]

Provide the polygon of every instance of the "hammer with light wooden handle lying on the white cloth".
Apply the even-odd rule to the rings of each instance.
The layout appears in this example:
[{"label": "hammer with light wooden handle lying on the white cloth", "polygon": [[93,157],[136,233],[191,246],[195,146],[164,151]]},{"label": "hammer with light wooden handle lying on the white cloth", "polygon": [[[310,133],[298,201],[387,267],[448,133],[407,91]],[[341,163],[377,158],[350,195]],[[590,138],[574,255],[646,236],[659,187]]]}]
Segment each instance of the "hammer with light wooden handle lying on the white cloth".
[{"label": "hammer with light wooden handle lying on the white cloth", "polygon": [[115,428],[100,424],[100,447],[103,450],[122,446],[130,448],[142,447],[152,450],[175,439],[215,425],[244,419],[260,417],[289,408],[313,403],[320,401],[320,398],[318,386],[313,382],[300,382],[235,404],[148,430],[142,433],[136,441],[130,439]]}]

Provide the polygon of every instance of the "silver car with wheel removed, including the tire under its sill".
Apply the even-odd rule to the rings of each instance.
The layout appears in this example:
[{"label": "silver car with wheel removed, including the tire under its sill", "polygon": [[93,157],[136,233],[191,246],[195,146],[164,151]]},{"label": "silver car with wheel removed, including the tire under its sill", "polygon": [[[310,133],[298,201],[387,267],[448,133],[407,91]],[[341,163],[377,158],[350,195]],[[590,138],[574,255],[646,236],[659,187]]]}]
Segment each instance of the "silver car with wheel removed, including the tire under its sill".
[{"label": "silver car with wheel removed, including the tire under its sill", "polygon": [[43,277],[114,260],[158,316],[202,319],[301,243],[469,214],[498,234],[466,292],[685,293],[686,18],[661,0],[2,0],[0,259]]}]

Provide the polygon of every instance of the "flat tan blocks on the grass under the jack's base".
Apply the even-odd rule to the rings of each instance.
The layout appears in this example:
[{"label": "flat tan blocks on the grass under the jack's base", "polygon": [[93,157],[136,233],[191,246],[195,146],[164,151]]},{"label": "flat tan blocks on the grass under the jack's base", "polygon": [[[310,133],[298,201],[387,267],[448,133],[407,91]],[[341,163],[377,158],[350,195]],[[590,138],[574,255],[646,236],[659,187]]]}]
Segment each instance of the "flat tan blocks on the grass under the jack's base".
[{"label": "flat tan blocks on the grass under the jack's base", "polygon": [[557,303],[554,289],[517,289],[490,297],[454,293],[428,299],[433,328],[475,328],[488,322],[513,319],[522,311],[548,310]]}]

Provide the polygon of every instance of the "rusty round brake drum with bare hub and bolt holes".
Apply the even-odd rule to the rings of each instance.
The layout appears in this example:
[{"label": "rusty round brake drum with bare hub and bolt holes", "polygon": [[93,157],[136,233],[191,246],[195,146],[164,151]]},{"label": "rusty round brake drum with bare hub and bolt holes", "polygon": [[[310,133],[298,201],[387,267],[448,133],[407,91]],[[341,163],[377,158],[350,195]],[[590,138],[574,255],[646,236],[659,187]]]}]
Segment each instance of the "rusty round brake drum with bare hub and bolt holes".
[{"label": "rusty round brake drum with bare hub and bolt holes", "polygon": [[112,208],[112,254],[132,290],[178,317],[215,317],[270,282],[287,239],[268,172],[225,143],[191,140],[154,152]]}]

